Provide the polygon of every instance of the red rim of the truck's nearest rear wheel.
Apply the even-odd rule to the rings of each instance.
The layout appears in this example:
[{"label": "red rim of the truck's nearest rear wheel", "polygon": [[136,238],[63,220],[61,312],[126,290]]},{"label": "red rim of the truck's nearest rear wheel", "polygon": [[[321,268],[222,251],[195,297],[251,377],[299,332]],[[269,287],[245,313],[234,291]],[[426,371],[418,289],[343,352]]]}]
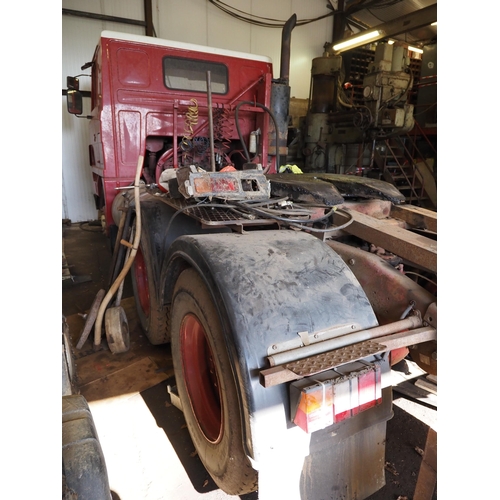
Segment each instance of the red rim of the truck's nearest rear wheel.
[{"label": "red rim of the truck's nearest rear wheel", "polygon": [[222,438],[219,378],[205,329],[194,314],[184,316],[180,329],[184,380],[198,426],[212,443]]}]

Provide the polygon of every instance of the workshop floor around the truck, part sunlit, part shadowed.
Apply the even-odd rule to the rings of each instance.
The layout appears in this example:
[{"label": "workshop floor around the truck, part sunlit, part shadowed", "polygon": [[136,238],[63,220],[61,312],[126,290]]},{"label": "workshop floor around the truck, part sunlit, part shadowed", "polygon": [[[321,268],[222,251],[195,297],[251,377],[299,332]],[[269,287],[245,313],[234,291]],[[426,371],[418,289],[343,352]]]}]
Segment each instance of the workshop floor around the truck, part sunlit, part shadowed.
[{"label": "workshop floor around the truck, part sunlit, part shadowed", "polygon": [[[62,240],[62,313],[75,347],[78,387],[94,417],[114,500],[256,499],[257,494],[226,495],[205,471],[182,413],[170,402],[167,386],[175,381],[169,346],[152,346],[142,334],[129,277],[121,306],[129,323],[130,350],[111,354],[104,335],[95,351],[93,331],[76,349],[84,315],[99,290],[107,290],[111,252],[100,227],[92,224],[63,224]],[[410,362],[393,370],[393,376],[398,385],[394,417],[387,424],[386,486],[369,500],[413,498],[429,429],[437,431],[437,395],[414,385],[425,374]],[[425,498],[435,500],[437,493]]]}]

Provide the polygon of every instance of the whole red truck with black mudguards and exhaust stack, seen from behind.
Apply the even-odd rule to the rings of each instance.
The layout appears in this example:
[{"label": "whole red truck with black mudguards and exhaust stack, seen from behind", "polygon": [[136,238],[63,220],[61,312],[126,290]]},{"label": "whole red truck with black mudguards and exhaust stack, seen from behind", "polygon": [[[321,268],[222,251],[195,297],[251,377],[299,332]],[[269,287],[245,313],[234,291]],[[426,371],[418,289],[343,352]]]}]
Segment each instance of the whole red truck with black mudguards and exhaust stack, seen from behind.
[{"label": "whole red truck with black mudguards and exhaust stack, seen from behind", "polygon": [[[267,57],[102,33],[84,68],[114,253],[94,344],[104,329],[112,352],[128,349],[131,272],[148,339],[171,344],[172,401],[223,491],[361,500],[385,483],[391,365],[410,352],[436,372],[436,214],[378,179],[286,172],[295,23],[276,79]],[[80,116],[81,97],[68,78]]]}]

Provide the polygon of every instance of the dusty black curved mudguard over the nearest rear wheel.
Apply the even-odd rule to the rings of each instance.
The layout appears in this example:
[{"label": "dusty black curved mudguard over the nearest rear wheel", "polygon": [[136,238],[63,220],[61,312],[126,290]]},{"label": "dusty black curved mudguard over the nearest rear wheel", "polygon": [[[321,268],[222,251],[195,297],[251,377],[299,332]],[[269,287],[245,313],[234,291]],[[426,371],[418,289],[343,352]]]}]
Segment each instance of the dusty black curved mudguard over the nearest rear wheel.
[{"label": "dusty black curved mudguard over the nearest rear wheel", "polygon": [[182,236],[169,248],[162,271],[165,303],[188,266],[203,277],[219,310],[247,454],[258,462],[293,438],[307,455],[309,436],[290,423],[287,385],[262,387],[259,370],[269,366],[273,344],[299,332],[351,322],[377,326],[354,274],[328,245],[304,232]]}]

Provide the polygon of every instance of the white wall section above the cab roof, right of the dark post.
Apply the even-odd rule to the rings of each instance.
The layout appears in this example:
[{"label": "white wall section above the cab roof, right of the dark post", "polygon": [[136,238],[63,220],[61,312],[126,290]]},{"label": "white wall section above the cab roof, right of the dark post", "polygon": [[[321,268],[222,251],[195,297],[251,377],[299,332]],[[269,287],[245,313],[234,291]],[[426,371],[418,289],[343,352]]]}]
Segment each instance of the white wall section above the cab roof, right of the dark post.
[{"label": "white wall section above the cab roof, right of the dark post", "polygon": [[[206,0],[156,0],[158,2],[161,4],[155,19],[158,37],[269,56],[273,60],[274,76],[279,77],[280,28],[262,28],[233,19]],[[329,12],[326,1],[322,0],[226,0],[225,3],[283,22],[294,13],[300,21]],[[311,61],[322,54],[325,42],[331,41],[332,31],[333,17],[293,30],[290,67],[293,97],[309,96]]]}]

